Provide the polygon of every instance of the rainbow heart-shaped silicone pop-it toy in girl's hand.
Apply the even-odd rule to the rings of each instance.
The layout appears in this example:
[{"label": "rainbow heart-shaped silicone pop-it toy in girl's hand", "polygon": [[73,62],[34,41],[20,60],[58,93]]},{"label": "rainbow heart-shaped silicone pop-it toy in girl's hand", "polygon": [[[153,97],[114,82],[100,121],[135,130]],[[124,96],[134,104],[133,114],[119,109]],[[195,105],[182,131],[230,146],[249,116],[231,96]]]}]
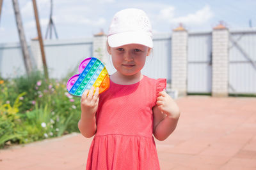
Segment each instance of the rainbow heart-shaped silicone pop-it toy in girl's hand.
[{"label": "rainbow heart-shaped silicone pop-it toy in girl's hand", "polygon": [[[79,74],[72,76],[67,82],[67,90],[73,96],[81,97],[84,90],[99,87],[99,93],[109,88],[109,74],[104,64],[94,57],[81,62]],[[95,88],[96,89],[96,88]]]}]

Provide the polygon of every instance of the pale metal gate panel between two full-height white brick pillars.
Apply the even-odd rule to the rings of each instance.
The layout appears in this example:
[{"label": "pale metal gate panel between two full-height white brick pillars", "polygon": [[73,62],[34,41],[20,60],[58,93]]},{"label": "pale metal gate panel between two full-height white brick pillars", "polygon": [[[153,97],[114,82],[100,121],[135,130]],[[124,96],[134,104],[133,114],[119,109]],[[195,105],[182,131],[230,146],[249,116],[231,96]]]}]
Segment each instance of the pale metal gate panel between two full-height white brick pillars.
[{"label": "pale metal gate panel between two full-height white brick pillars", "polygon": [[211,93],[212,34],[189,33],[188,36],[188,94]]}]

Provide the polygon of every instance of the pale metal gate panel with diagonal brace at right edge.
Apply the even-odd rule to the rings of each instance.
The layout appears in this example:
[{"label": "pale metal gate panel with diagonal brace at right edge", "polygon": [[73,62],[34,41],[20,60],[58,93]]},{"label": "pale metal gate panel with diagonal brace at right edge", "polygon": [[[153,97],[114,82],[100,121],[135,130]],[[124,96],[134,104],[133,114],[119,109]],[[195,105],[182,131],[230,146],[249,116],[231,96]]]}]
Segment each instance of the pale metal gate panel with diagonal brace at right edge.
[{"label": "pale metal gate panel with diagonal brace at right edge", "polygon": [[256,30],[230,31],[230,94],[256,94]]}]

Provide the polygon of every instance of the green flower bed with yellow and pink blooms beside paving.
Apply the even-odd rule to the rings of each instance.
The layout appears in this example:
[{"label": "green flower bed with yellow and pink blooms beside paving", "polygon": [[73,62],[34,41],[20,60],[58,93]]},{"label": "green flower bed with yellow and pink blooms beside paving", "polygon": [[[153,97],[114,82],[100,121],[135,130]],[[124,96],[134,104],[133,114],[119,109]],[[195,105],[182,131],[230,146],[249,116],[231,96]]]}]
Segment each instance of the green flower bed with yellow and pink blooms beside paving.
[{"label": "green flower bed with yellow and pink blooms beside paving", "polygon": [[80,99],[67,80],[45,80],[36,71],[12,80],[0,78],[0,147],[79,132]]}]

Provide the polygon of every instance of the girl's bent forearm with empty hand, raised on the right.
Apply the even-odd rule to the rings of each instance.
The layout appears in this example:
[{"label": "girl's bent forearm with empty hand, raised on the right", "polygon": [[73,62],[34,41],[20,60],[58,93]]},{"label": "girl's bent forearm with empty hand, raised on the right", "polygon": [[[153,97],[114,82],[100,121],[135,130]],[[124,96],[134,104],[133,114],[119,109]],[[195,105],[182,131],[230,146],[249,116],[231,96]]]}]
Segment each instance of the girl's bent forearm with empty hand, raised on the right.
[{"label": "girl's bent forearm with empty hand, raised on the right", "polygon": [[156,106],[153,108],[154,114],[154,136],[159,141],[168,138],[177,126],[180,110],[166,92],[159,92]]}]

